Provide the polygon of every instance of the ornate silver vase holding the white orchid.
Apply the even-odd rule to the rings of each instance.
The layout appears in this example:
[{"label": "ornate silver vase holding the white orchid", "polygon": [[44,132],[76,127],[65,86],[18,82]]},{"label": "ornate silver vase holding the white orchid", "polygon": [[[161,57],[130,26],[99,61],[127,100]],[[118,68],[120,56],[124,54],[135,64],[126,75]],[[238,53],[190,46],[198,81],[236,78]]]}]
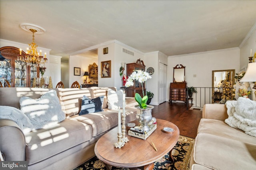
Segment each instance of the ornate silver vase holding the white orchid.
[{"label": "ornate silver vase holding the white orchid", "polygon": [[150,131],[148,123],[152,120],[154,106],[148,105],[146,109],[142,109],[139,105],[136,105],[135,108],[137,109],[136,118],[140,122],[140,129],[146,132]]}]

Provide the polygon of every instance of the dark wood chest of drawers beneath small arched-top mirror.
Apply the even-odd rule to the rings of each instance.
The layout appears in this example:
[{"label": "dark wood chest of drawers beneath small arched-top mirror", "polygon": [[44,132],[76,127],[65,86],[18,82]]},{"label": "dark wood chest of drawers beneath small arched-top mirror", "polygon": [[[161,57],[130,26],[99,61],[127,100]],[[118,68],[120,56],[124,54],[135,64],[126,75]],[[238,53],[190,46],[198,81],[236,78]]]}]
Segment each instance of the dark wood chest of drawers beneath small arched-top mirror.
[{"label": "dark wood chest of drawers beneath small arched-top mirror", "polygon": [[170,84],[170,100],[179,100],[186,103],[186,82],[175,82]]}]

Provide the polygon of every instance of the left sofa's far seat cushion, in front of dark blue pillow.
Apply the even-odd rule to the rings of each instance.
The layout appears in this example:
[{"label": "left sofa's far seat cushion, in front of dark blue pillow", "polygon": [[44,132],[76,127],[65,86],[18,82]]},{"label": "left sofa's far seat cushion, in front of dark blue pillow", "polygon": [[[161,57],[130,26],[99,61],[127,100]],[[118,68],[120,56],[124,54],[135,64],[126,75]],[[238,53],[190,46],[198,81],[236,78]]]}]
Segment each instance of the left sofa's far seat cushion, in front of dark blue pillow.
[{"label": "left sofa's far seat cushion, in front of dark blue pillow", "polygon": [[86,115],[74,115],[70,119],[90,125],[92,136],[95,137],[117,125],[118,113],[116,111],[100,111]]}]

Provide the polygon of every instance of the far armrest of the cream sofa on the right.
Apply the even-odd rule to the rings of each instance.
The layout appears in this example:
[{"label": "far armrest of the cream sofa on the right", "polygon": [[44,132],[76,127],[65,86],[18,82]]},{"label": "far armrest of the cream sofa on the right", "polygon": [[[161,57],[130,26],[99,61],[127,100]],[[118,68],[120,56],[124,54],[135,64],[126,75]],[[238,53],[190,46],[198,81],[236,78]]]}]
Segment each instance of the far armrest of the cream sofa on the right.
[{"label": "far armrest of the cream sofa on the right", "polygon": [[228,118],[227,107],[224,104],[205,104],[202,118],[224,121]]}]

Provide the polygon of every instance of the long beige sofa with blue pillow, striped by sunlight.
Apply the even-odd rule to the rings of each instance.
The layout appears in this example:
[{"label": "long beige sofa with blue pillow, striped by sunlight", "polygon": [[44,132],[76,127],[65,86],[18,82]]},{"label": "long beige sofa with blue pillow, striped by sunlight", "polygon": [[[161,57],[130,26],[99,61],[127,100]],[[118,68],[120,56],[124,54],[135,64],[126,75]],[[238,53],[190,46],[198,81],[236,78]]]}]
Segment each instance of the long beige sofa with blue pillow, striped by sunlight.
[{"label": "long beige sofa with blue pillow, striped by sunlight", "polygon": [[[116,90],[116,88],[112,88]],[[0,105],[20,108],[20,98],[38,99],[50,89],[0,88]],[[92,158],[96,141],[118,125],[117,110],[107,107],[108,88],[54,89],[66,119],[48,129],[23,133],[12,120],[0,120],[0,149],[5,160],[28,161],[29,170],[70,170]],[[104,111],[78,115],[78,99],[105,96]],[[126,122],[136,119],[136,101],[126,98]]]}]

